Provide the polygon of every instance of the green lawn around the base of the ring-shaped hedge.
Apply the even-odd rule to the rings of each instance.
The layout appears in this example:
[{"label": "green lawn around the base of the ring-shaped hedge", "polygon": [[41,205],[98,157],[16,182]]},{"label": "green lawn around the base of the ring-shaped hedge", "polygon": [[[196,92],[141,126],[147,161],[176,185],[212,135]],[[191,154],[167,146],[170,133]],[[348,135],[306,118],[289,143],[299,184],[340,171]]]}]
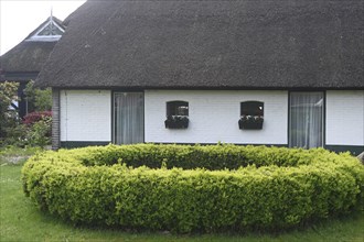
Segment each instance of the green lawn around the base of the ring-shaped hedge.
[{"label": "green lawn around the base of the ring-shaped hedge", "polygon": [[[26,153],[26,152],[25,152]],[[3,153],[4,154],[4,153]],[[25,154],[29,155],[29,154]],[[11,155],[7,153],[3,160]],[[19,156],[19,153],[17,153]],[[0,241],[352,241],[364,240],[364,215],[324,221],[307,229],[279,234],[194,234],[163,232],[132,233],[113,229],[74,227],[42,213],[21,188],[22,164],[1,163]]]}]

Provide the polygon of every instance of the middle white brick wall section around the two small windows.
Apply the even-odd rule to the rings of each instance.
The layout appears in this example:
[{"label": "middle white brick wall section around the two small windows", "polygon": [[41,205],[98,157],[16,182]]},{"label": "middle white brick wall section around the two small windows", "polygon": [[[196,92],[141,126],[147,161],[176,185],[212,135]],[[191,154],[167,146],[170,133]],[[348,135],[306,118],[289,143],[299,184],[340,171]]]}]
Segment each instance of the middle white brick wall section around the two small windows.
[{"label": "middle white brick wall section around the two small windows", "polygon": [[[164,128],[165,102],[189,101],[189,128]],[[264,102],[263,130],[239,130],[240,102]],[[146,142],[287,144],[288,91],[146,90]]]}]

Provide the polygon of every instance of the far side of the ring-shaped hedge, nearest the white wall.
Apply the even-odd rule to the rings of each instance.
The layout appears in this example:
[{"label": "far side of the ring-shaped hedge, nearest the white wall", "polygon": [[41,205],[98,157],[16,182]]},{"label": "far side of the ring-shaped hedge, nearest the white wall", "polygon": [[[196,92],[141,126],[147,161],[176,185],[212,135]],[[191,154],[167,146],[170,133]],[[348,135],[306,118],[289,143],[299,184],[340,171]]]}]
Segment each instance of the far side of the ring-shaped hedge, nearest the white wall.
[{"label": "far side of the ring-shaped hedge, nearest the white wall", "polygon": [[329,155],[323,148],[292,150],[267,146],[224,145],[109,145],[107,148],[88,147],[88,155],[81,157],[86,166],[126,164],[127,166],[148,166],[160,168],[162,163],[167,168],[183,169],[206,168],[236,169],[240,166],[255,165],[297,166],[317,162],[326,162],[336,156]]}]

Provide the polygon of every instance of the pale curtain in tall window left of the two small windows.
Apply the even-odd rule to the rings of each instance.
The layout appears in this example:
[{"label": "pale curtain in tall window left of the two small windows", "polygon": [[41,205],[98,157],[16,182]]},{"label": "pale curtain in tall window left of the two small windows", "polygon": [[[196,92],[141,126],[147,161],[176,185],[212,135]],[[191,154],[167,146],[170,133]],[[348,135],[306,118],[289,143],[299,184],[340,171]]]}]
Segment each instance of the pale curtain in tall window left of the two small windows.
[{"label": "pale curtain in tall window left of the two small windows", "polygon": [[144,140],[143,94],[114,95],[114,133],[116,144],[142,143]]}]

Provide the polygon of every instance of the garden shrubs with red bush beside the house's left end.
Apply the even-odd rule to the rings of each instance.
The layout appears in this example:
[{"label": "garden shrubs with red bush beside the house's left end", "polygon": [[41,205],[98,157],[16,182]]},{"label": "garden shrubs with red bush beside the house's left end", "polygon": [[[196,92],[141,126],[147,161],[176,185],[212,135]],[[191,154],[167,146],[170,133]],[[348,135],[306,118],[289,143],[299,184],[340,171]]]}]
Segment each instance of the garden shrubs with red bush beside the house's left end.
[{"label": "garden shrubs with red bush beside the house's left end", "polygon": [[[24,120],[18,110],[9,109],[12,101],[19,101],[19,82],[0,84],[0,145],[45,146],[51,141],[52,92],[51,89],[34,88],[31,80],[24,89],[29,107],[38,112],[29,113]],[[31,110],[31,109],[30,109]]]}]

